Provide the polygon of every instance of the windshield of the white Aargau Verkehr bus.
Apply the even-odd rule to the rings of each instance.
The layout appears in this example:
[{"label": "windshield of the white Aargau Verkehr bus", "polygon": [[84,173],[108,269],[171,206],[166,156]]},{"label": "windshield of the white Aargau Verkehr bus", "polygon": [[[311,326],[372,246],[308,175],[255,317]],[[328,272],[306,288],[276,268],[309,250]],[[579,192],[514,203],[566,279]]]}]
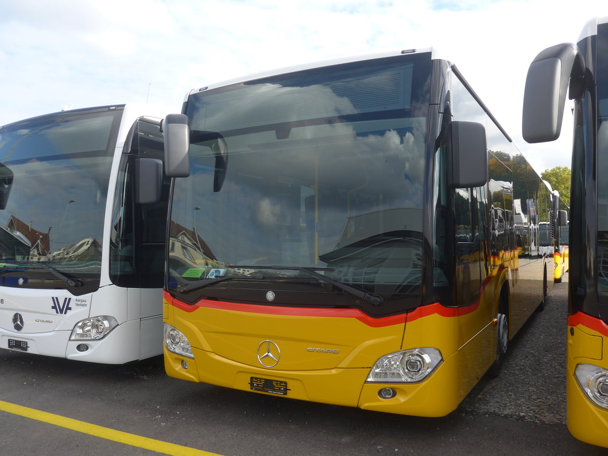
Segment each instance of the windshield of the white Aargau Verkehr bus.
[{"label": "windshield of the white Aargau Verkehr bus", "polygon": [[0,129],[0,163],[13,176],[0,210],[4,285],[23,268],[40,269],[40,280],[27,284],[34,287],[48,288],[44,281],[61,274],[99,278],[112,133],[121,114],[60,112]]}]

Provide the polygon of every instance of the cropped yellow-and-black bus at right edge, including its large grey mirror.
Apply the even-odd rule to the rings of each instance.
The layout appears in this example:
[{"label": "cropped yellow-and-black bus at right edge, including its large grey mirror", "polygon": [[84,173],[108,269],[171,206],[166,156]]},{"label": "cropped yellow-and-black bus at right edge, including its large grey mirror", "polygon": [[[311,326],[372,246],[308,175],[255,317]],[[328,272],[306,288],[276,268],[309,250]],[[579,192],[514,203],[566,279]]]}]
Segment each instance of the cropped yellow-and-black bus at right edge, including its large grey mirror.
[{"label": "cropped yellow-and-black bus at right edge, including its large grey mirror", "polygon": [[608,18],[577,44],[543,50],[528,70],[523,138],[557,139],[567,92],[574,100],[568,274],[567,424],[608,447]]}]

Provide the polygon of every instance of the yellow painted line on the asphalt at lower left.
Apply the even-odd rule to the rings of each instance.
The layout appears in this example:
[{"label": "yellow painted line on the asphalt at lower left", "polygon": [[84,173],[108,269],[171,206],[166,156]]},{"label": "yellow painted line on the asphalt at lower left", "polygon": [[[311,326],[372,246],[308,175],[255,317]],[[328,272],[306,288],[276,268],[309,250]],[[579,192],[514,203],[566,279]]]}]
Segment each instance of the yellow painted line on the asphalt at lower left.
[{"label": "yellow painted line on the asphalt at lower left", "polygon": [[32,420],[43,421],[44,423],[54,424],[55,426],[65,427],[66,429],[89,434],[94,437],[105,438],[125,445],[136,446],[139,448],[156,451],[173,456],[219,456],[215,453],[190,448],[187,446],[176,445],[153,438],[142,437],[140,435],[129,434],[121,430],[110,429],[109,427],[97,426],[97,424],[85,423],[84,421],[66,418],[65,416],[55,415],[54,413],[43,412],[41,410],[30,409],[29,407],[18,406],[10,402],[0,401],[0,410],[13,415],[25,416]]}]

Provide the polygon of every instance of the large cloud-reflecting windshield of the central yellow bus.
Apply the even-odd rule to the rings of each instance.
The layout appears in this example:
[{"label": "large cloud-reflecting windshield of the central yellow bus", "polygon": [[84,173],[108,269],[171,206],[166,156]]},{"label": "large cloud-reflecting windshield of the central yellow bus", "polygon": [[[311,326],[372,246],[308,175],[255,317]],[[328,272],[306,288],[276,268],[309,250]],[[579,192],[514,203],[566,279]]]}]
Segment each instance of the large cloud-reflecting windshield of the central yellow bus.
[{"label": "large cloud-reflecting windshield of the central yellow bus", "polygon": [[327,286],[308,268],[366,292],[419,296],[429,74],[420,54],[191,96],[169,286],[216,276],[238,279],[224,289]]}]

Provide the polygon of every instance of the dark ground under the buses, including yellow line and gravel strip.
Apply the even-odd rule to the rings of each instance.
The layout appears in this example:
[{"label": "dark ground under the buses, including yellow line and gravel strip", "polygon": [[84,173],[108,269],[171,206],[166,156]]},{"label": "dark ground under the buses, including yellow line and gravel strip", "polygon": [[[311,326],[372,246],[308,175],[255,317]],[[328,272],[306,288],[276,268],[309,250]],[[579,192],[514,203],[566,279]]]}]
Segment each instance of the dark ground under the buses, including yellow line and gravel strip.
[{"label": "dark ground under the buses, including yellow line and gravel strip", "polygon": [[567,281],[497,379],[418,418],[179,381],[162,357],[95,365],[0,351],[0,455],[600,455],[565,427]]}]

